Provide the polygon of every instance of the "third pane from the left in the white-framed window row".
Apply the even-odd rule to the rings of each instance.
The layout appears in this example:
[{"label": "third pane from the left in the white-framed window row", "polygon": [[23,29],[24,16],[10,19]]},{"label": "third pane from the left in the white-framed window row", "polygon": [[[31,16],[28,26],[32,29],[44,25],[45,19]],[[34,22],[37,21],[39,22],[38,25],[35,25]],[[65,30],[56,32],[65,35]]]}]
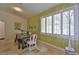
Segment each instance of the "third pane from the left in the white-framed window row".
[{"label": "third pane from the left in the white-framed window row", "polygon": [[55,14],[53,16],[53,33],[61,34],[61,14]]}]

